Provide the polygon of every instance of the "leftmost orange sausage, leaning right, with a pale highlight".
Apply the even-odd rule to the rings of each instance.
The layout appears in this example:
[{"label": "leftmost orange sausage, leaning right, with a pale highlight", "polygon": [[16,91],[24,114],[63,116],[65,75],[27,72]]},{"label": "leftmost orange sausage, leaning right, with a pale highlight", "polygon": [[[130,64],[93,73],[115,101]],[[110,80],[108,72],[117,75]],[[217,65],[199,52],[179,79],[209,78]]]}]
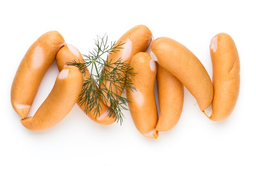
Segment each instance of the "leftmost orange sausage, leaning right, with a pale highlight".
[{"label": "leftmost orange sausage, leaning right, with a pale highlight", "polygon": [[11,86],[11,104],[22,119],[27,116],[43,76],[63,45],[61,34],[49,31],[41,35],[23,57]]}]

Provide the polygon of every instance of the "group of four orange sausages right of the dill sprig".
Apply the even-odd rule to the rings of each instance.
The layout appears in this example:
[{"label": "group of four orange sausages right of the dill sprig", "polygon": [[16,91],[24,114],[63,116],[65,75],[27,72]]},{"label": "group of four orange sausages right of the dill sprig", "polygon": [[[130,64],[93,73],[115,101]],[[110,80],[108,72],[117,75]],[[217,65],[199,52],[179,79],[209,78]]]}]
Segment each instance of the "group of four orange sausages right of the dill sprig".
[{"label": "group of four orange sausages right of the dill sprig", "polygon": [[[131,79],[137,91],[128,90],[127,97],[131,101],[132,119],[141,134],[156,139],[158,131],[170,130],[177,124],[183,107],[182,84],[195,97],[203,113],[212,104],[212,115],[204,113],[209,119],[222,121],[231,114],[240,84],[236,45],[229,35],[220,33],[211,40],[210,51],[213,84],[198,58],[171,38],[153,41],[151,58],[148,53],[134,55],[130,64],[137,75]],[[155,75],[161,112],[159,120],[153,90]]]}]

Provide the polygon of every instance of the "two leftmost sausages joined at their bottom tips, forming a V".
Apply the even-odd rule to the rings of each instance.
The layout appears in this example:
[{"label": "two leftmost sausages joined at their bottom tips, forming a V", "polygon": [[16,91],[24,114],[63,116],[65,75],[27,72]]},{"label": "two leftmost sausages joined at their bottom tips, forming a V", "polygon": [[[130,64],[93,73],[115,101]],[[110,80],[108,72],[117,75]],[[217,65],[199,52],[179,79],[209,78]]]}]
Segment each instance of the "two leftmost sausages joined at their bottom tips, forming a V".
[{"label": "two leftmost sausages joined at their bottom tips, forming a V", "polygon": [[26,117],[43,76],[63,46],[65,41],[60,33],[43,34],[30,46],[13,79],[11,104],[29,130],[45,130],[57,124],[70,112],[81,92],[82,73],[78,68],[68,66],[58,74],[52,91],[34,117]]}]

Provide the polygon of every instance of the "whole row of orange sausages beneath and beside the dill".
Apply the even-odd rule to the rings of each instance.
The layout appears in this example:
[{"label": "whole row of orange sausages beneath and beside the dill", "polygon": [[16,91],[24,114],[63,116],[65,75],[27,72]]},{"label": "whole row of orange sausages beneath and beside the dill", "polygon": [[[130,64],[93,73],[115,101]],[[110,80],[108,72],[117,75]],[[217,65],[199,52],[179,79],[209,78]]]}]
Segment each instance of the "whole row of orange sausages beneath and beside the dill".
[{"label": "whole row of orange sausages beneath and beside the dill", "polygon": [[[142,135],[156,139],[158,131],[171,130],[177,124],[183,107],[183,85],[210,120],[222,121],[233,111],[239,93],[240,63],[236,45],[228,34],[217,34],[210,42],[213,83],[200,60],[189,49],[171,38],[153,40],[151,31],[144,25],[127,31],[118,43],[125,43],[123,49],[110,54],[108,60],[115,62],[121,57],[136,73],[130,76],[136,91],[127,89],[126,95],[130,101],[128,106],[132,119]],[[150,54],[144,52],[148,47]],[[54,87],[34,117],[26,117],[40,82],[55,59],[60,73]],[[88,71],[83,75],[75,66],[65,64],[74,60],[83,62],[83,56],[74,46],[66,44],[56,31],[43,34],[30,46],[11,87],[11,104],[22,117],[21,123],[26,128],[45,130],[70,112],[81,94],[83,80],[90,77]],[[159,95],[159,118],[154,94],[155,78]],[[100,86],[110,89],[107,81]],[[121,95],[122,92],[123,89],[115,93]],[[79,105],[81,110],[85,110],[85,105]],[[115,118],[108,117],[109,103],[100,101],[100,105],[100,114],[95,117],[94,112],[89,111],[88,117],[99,124],[112,124]],[[204,110],[210,105],[212,114],[209,116]]]}]

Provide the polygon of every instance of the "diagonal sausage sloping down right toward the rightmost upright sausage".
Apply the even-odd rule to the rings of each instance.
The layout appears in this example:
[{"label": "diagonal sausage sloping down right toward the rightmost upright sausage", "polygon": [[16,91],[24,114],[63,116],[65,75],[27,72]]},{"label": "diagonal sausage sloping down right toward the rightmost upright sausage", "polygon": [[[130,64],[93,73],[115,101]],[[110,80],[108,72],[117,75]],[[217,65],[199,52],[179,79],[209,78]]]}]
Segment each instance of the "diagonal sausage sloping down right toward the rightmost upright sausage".
[{"label": "diagonal sausage sloping down right toward the rightmost upright sausage", "polygon": [[198,58],[179,42],[171,38],[157,38],[151,45],[153,60],[173,74],[195,97],[201,111],[213,99],[211,79]]}]

